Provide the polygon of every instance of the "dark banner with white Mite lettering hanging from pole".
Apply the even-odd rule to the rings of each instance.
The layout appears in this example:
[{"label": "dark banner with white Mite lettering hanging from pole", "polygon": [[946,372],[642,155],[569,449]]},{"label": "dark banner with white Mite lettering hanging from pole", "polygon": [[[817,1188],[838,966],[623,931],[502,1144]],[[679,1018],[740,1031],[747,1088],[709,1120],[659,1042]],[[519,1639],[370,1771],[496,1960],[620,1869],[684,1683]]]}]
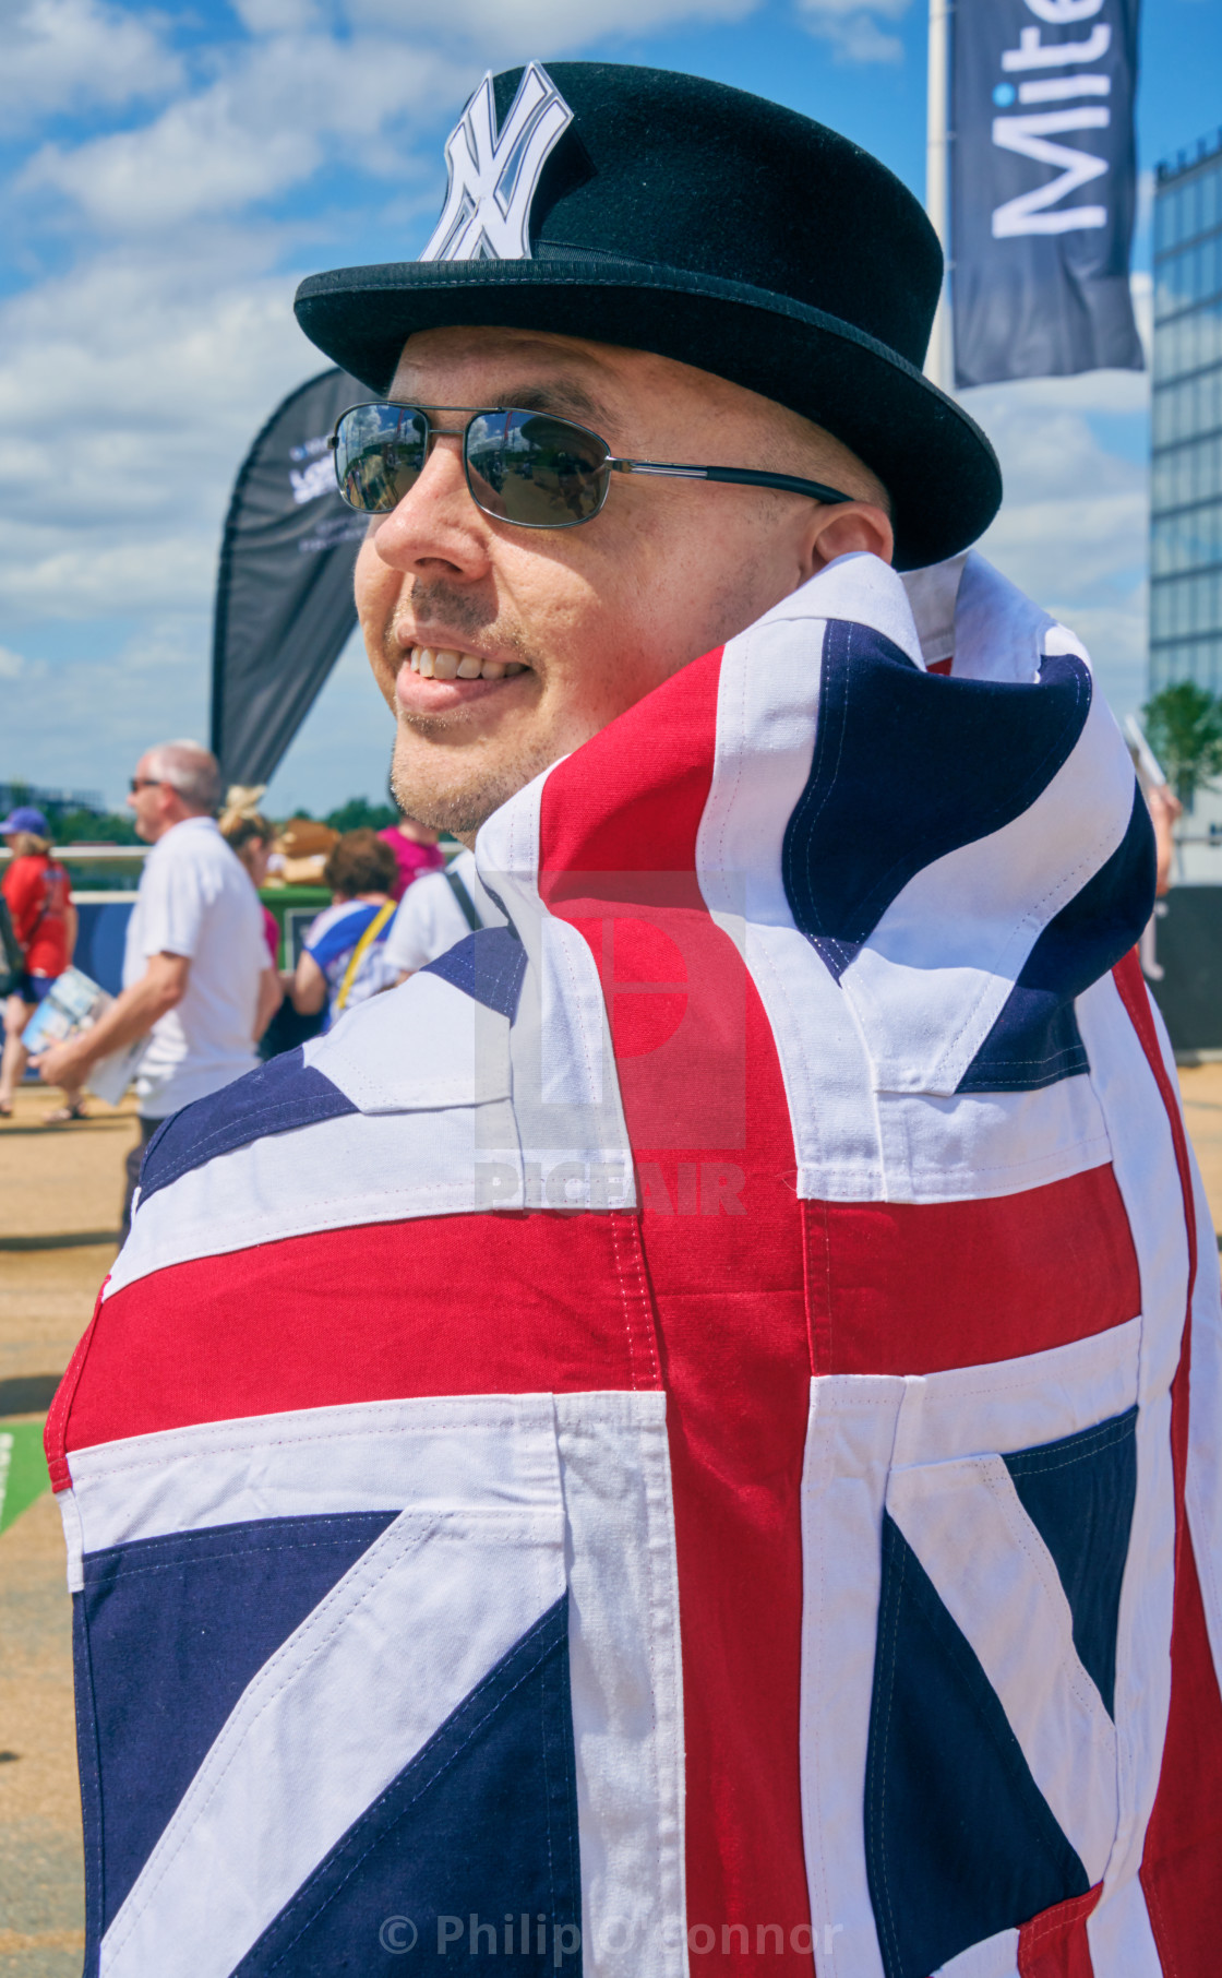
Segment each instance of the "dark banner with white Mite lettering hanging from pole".
[{"label": "dark banner with white Mite lettering hanging from pole", "polygon": [[1145,366],[1129,295],[1137,10],[955,8],[955,386]]}]

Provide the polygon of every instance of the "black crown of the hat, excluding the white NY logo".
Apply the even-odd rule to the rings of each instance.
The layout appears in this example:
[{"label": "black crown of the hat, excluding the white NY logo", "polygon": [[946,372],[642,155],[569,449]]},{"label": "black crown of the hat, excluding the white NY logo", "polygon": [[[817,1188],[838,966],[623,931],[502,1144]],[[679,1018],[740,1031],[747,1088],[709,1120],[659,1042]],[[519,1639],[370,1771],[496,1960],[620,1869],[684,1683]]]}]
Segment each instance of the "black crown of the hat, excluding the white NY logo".
[{"label": "black crown of the hat, excluding the white NY logo", "polygon": [[[571,123],[538,174],[536,259],[621,259],[747,283],[923,364],[941,249],[919,202],[878,158],[811,117],[698,75],[601,61],[550,61],[542,73]],[[502,129],[528,75],[492,79]]]}]

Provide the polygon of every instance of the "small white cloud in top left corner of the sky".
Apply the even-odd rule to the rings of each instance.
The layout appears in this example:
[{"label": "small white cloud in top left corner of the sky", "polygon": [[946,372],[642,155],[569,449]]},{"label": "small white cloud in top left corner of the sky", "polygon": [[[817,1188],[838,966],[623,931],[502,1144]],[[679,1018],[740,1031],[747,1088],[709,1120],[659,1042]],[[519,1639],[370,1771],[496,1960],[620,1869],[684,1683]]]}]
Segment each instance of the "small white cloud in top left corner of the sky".
[{"label": "small white cloud in top left corner of the sky", "polygon": [[89,105],[117,109],[182,79],[156,16],[105,0],[28,0],[6,14],[0,123],[10,129]]}]

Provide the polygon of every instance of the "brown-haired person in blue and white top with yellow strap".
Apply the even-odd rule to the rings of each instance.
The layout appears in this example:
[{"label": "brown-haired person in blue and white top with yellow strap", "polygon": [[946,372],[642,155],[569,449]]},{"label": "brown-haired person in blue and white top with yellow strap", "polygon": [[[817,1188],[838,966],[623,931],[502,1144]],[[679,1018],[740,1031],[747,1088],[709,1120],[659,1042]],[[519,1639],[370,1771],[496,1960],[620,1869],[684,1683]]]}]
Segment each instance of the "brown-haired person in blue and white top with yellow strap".
[{"label": "brown-haired person in blue and white top with yellow strap", "polygon": [[376,831],[346,831],[332,847],[322,878],[332,904],[306,936],[289,993],[303,1017],[312,1017],[326,1003],[324,1029],[330,1031],[352,1003],[388,987],[382,949],[395,912],[395,854]]}]

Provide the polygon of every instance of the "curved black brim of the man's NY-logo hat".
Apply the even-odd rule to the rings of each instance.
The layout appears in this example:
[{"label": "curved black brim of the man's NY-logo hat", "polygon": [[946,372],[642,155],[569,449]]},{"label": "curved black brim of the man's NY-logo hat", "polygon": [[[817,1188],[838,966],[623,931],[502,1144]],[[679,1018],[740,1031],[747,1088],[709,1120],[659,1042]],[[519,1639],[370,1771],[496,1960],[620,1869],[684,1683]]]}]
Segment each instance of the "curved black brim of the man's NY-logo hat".
[{"label": "curved black brim of the man's NY-logo hat", "polygon": [[957,556],[1001,506],[997,455],[955,400],[850,322],[747,283],[601,257],[399,261],[312,275],[295,307],[310,342],[378,394],[409,336],[451,324],[585,336],[728,378],[823,425],[878,475],[898,570]]}]

